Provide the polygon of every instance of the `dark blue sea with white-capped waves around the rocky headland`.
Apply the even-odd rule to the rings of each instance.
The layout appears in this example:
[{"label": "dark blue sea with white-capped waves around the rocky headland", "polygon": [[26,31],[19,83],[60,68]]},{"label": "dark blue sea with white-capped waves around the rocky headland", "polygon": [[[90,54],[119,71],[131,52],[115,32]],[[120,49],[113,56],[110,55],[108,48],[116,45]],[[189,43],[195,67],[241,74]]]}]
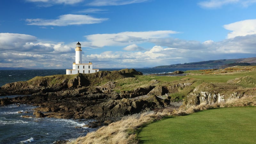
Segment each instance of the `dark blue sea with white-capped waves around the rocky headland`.
[{"label": "dark blue sea with white-capped waves around the rocky headland", "polygon": [[[122,68],[102,68],[100,71],[114,71]],[[196,70],[203,68],[134,68],[143,73],[168,74],[176,70]],[[17,82],[27,81],[35,76],[50,76],[66,74],[66,69],[22,69],[0,70],[0,86]],[[22,95],[0,96],[1,98],[14,98]],[[11,104],[0,106],[0,144],[38,143],[53,144],[57,141],[72,140],[85,136],[88,132],[95,131],[85,127],[93,122],[93,119],[57,119],[57,118],[24,118],[32,116],[36,106],[26,104]],[[28,112],[28,113],[25,113]]]}]

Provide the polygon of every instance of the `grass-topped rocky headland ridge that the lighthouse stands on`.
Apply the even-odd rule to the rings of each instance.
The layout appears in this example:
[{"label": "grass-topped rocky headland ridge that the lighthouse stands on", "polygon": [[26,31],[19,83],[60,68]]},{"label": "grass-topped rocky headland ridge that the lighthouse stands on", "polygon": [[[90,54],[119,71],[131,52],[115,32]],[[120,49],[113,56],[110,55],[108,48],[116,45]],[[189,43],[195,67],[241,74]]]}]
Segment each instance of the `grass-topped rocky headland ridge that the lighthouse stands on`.
[{"label": "grass-topped rocky headland ridge that the lighthouse stands on", "polygon": [[25,82],[14,82],[5,84],[0,89],[0,96],[15,94],[34,94],[58,92],[63,89],[76,89],[80,87],[96,86],[102,81],[111,81],[125,77],[134,77],[142,75],[135,69],[123,69],[119,71],[99,71],[92,74],[76,75],[53,75],[36,76]]}]

